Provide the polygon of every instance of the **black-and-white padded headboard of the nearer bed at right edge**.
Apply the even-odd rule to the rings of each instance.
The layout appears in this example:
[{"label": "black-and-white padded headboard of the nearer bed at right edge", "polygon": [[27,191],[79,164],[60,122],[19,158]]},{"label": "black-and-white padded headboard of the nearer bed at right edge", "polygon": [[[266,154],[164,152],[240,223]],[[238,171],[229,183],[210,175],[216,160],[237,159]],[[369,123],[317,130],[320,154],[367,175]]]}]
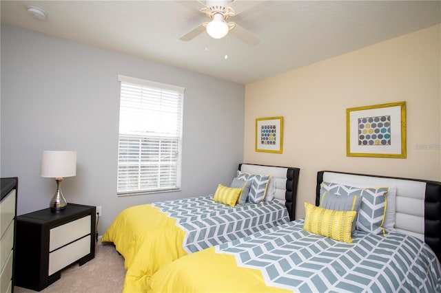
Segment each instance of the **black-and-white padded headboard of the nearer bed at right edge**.
[{"label": "black-and-white padded headboard of the nearer bed at right edge", "polygon": [[336,171],[317,173],[316,206],[322,182],[396,186],[397,231],[424,240],[441,260],[441,182]]}]

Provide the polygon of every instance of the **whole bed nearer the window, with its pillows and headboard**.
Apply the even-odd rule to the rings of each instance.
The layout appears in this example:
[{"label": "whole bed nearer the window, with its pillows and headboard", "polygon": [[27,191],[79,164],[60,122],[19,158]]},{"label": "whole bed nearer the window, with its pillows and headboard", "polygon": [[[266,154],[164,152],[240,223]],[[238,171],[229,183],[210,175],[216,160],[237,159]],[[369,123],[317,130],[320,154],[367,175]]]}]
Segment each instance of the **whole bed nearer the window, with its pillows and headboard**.
[{"label": "whole bed nearer the window, with its pillows and headboard", "polygon": [[150,276],[167,263],[294,219],[299,172],[239,164],[232,183],[219,184],[213,195],[123,210],[101,239],[124,257],[123,291],[145,292]]}]

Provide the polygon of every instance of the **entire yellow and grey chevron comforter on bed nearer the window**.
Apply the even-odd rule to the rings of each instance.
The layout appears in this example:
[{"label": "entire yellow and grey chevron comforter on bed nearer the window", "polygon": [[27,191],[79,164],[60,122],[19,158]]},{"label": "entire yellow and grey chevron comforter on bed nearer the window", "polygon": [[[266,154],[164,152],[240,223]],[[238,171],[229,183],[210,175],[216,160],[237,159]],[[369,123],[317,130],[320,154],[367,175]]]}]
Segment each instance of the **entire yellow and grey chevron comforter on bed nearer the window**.
[{"label": "entire yellow and grey chevron comforter on bed nearer the window", "polygon": [[124,257],[124,292],[145,292],[150,276],[167,263],[288,221],[278,199],[232,208],[208,195],[127,208],[101,241],[114,243]]}]

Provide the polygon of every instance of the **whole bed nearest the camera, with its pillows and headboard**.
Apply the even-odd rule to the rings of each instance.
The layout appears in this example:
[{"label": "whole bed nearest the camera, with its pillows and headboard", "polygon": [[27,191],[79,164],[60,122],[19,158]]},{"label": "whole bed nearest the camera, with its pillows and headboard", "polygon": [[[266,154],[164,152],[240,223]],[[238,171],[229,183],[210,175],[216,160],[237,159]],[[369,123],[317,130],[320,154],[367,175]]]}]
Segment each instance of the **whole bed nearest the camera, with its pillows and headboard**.
[{"label": "whole bed nearest the camera, with its pillows and headboard", "polygon": [[147,292],[441,292],[440,258],[440,182],[320,171],[305,218],[178,259]]}]

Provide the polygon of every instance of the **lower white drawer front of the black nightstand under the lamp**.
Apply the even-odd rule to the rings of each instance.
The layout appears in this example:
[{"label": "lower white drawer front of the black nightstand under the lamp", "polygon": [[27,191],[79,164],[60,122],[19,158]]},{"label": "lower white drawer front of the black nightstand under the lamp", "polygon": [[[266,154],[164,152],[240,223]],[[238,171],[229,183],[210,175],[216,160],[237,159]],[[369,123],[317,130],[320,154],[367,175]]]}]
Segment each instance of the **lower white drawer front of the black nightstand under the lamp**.
[{"label": "lower white drawer front of the black nightstand under the lamp", "polygon": [[[90,223],[90,222],[89,222]],[[48,275],[54,274],[90,253],[90,235],[49,254]]]}]

